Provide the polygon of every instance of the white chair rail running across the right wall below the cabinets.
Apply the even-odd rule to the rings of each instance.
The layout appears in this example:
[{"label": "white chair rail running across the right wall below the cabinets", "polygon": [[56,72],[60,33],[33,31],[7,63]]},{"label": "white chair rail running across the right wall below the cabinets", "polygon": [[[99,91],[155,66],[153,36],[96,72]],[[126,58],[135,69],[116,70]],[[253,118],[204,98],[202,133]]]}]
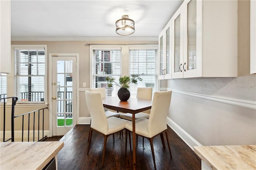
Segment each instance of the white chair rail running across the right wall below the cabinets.
[{"label": "white chair rail running across the right wall below the cabinets", "polygon": [[[162,88],[160,90],[164,90],[164,88]],[[237,99],[237,98],[233,98],[233,97],[217,96],[217,95],[205,95],[205,94],[200,94],[200,93],[192,93],[192,92],[188,92],[188,91],[180,91],[180,90],[168,89],[168,88],[166,88],[165,90],[171,90],[175,93],[179,93],[182,95],[188,95],[188,96],[206,99],[206,100],[210,100],[210,101],[216,101],[216,102],[220,102],[220,103],[225,103],[225,104],[229,104],[229,105],[234,105],[234,106],[238,106],[238,107],[244,107],[244,108],[256,110],[256,101]]]}]

